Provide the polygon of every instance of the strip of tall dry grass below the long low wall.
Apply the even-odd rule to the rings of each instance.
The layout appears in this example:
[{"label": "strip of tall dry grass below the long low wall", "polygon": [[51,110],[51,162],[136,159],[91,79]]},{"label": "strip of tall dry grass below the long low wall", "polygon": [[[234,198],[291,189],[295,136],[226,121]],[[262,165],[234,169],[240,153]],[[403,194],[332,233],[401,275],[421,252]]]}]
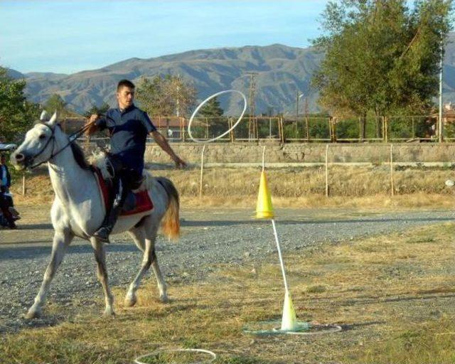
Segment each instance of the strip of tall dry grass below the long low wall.
[{"label": "strip of tall dry grass below the long low wall", "polygon": [[[259,185],[258,168],[208,168],[203,198],[199,198],[198,169],[154,171],[171,178],[183,205],[255,205]],[[453,191],[444,186],[454,172],[444,168],[407,168],[395,172],[395,196],[390,196],[390,179],[385,167],[340,167],[330,169],[331,197],[325,197],[323,168],[274,168],[267,170],[269,189],[276,207],[314,208],[454,208]],[[12,190],[16,203],[50,203],[53,191],[47,173],[27,177],[27,195],[21,196],[21,183]]]}]

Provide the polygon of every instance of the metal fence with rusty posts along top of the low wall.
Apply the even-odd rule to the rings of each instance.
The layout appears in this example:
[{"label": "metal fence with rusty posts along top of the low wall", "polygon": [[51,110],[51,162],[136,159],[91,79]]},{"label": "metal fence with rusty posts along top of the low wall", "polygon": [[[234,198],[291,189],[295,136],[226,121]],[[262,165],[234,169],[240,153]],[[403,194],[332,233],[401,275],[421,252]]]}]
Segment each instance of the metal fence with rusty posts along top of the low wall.
[{"label": "metal fence with rusty posts along top of the low wall", "polygon": [[[191,132],[201,140],[212,139],[230,129],[238,117],[197,117],[193,119]],[[188,136],[188,119],[175,116],[153,117],[157,129],[171,141],[191,141]],[[71,133],[82,127],[84,118],[65,118],[61,124]],[[406,115],[338,119],[328,116],[303,116],[298,118],[244,117],[237,127],[220,142],[258,141],[262,139],[281,142],[358,142],[358,141],[437,141],[437,117],[432,115]],[[455,125],[445,124],[444,140],[455,140]],[[107,137],[97,134],[96,137]]]}]

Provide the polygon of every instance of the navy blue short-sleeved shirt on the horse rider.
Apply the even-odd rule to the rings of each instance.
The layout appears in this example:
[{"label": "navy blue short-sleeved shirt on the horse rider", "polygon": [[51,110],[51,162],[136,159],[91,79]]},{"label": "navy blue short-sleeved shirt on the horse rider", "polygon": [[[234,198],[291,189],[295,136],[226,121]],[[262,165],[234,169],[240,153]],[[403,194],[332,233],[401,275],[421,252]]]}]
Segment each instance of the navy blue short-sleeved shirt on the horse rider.
[{"label": "navy blue short-sleeved shirt on the horse rider", "polygon": [[111,153],[128,168],[142,173],[147,134],[156,131],[147,113],[134,105],[123,111],[109,109],[96,125],[100,130],[109,130]]}]

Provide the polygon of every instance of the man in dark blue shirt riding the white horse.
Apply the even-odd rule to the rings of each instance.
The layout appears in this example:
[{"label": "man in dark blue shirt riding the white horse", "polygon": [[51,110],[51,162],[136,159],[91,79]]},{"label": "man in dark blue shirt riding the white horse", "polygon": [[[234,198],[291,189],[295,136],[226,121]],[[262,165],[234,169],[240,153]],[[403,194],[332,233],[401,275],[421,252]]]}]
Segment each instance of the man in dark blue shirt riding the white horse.
[{"label": "man in dark blue shirt riding the white horse", "polygon": [[93,114],[89,119],[92,126],[87,134],[97,130],[109,130],[110,161],[114,166],[114,203],[105,221],[94,236],[98,240],[109,242],[118,215],[122,210],[124,200],[130,189],[139,187],[144,169],[144,152],[147,135],[151,135],[156,144],[166,151],[178,168],[184,168],[186,163],[180,159],[154,127],[146,112],[134,106],[134,84],[129,80],[121,80],[117,85],[118,107],[107,110],[101,116]]}]

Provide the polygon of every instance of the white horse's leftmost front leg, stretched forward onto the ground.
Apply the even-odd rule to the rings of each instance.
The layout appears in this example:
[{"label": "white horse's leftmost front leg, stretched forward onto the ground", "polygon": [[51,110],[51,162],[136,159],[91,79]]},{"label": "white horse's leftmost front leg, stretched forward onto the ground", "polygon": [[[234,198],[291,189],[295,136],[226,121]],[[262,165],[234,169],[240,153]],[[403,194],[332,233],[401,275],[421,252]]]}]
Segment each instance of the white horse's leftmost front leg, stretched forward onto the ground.
[{"label": "white horse's leftmost front leg, stretched forward onto the ground", "polygon": [[73,240],[73,237],[74,235],[68,231],[56,231],[54,233],[50,262],[47,269],[45,269],[43,283],[35,297],[35,302],[31,308],[28,309],[26,314],[27,319],[34,319],[41,315],[41,309],[45,303],[45,297],[48,295],[50,282],[52,281],[58,266],[62,262],[66,249],[68,248],[68,245],[70,245],[71,240]]}]

